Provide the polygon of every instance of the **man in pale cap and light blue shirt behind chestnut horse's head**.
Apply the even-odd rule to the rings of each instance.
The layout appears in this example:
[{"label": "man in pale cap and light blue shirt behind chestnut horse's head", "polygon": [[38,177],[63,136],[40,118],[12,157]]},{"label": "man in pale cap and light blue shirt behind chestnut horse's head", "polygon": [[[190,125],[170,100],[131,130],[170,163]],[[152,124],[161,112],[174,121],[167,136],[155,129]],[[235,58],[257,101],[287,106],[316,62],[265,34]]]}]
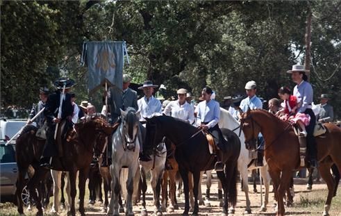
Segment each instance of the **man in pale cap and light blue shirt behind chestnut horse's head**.
[{"label": "man in pale cap and light blue shirt behind chestnut horse's head", "polygon": [[[263,103],[262,101],[256,96],[257,92],[257,84],[255,81],[249,81],[245,85],[245,90],[247,92],[247,98],[243,99],[240,102],[240,109],[243,112],[247,112],[249,108],[251,110],[254,109],[261,109],[263,108]],[[238,118],[240,119],[240,114],[238,113]],[[264,153],[264,138],[261,133],[258,134],[258,156],[257,156],[257,166],[262,167],[263,166],[263,153]]]}]

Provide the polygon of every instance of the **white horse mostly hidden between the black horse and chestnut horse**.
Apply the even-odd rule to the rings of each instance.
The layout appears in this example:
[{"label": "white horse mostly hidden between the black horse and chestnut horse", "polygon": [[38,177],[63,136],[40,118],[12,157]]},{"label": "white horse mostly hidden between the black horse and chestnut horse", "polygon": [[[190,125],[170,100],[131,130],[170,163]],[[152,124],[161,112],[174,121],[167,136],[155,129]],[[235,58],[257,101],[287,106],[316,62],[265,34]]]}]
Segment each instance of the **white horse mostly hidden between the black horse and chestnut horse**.
[{"label": "white horse mostly hidden between the black horse and chestnut horse", "polygon": [[[241,149],[240,149],[240,156],[238,158],[238,170],[240,172],[240,176],[242,178],[242,188],[245,192],[245,198],[246,198],[246,208],[245,213],[250,214],[251,208],[250,208],[250,199],[249,199],[249,185],[248,185],[248,170],[252,169],[260,169],[260,176],[263,178],[264,185],[265,185],[265,197],[263,202],[261,203],[260,211],[266,211],[267,210],[267,203],[269,203],[269,185],[270,185],[270,175],[267,171],[267,164],[265,162],[265,159],[263,159],[264,166],[263,167],[255,167],[252,163],[248,167],[248,165],[251,163],[252,158],[249,157],[249,151],[245,148],[245,138],[242,131],[240,131],[240,123],[230,114],[227,110],[224,108],[220,108],[220,120],[219,120],[219,128],[228,128],[229,130],[237,133],[239,135],[240,133],[240,143],[241,143]],[[206,181],[206,200],[205,205],[210,206],[209,201],[209,193],[210,191],[210,179],[211,179],[211,171],[206,171],[207,174],[207,181]],[[220,186],[221,189],[221,186]],[[218,199],[222,197],[219,196],[218,192]],[[228,213],[234,213],[235,206],[231,206]]]}]

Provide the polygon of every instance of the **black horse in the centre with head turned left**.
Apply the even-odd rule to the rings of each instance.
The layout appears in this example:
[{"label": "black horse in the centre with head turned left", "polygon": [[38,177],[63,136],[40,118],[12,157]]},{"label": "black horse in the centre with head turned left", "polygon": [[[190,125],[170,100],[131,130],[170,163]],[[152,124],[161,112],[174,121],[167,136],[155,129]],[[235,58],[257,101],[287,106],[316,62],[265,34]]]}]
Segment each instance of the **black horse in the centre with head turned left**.
[{"label": "black horse in the centre with head turned left", "polygon": [[[150,129],[152,128],[152,129]],[[150,134],[155,131],[155,134]],[[237,199],[237,161],[240,154],[240,140],[238,135],[228,129],[223,128],[224,138],[228,140],[228,145],[224,149],[222,163],[224,163],[224,172],[217,172],[219,180],[224,188],[224,207],[223,215],[228,213],[228,202],[235,205]],[[213,169],[215,158],[211,155],[208,148],[208,141],[199,128],[188,124],[181,119],[169,116],[158,116],[147,119],[147,135],[146,138],[156,147],[163,140],[168,138],[176,145],[175,158],[178,162],[179,172],[183,178],[185,191],[185,210],[183,215],[188,215],[190,209],[188,173],[192,172],[194,180],[194,210],[193,215],[198,215],[198,189],[200,172]]]}]

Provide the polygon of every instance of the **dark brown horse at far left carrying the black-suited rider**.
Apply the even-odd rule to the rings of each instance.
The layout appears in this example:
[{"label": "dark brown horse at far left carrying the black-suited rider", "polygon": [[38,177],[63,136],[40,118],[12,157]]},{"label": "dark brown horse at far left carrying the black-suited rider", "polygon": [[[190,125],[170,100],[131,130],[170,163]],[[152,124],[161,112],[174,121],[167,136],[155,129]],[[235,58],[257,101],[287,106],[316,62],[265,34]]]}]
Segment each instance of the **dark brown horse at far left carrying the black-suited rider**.
[{"label": "dark brown horse at far left carrying the black-suited rider", "polygon": [[[86,122],[76,124],[74,126],[76,133],[72,133],[72,136],[68,141],[65,141],[65,146],[69,147],[69,151],[65,151],[65,160],[54,160],[53,168],[60,171],[69,171],[69,179],[71,183],[71,197],[72,203],[70,204],[71,214],[76,215],[75,210],[75,197],[76,197],[76,172],[79,170],[79,211],[81,215],[84,213],[84,194],[85,194],[85,180],[88,176],[90,163],[94,151],[101,151],[103,149],[103,143],[98,140],[103,140],[101,137],[110,135],[114,128],[108,126],[104,119],[94,116],[89,117]],[[101,139],[100,139],[101,138]],[[33,178],[28,181],[28,188],[30,194],[32,194],[35,203],[37,203],[38,213],[42,215],[42,205],[40,204],[40,198],[35,193],[38,183],[49,172],[49,169],[39,166],[39,159],[42,155],[42,149],[44,148],[45,140],[38,140],[35,136],[34,126],[28,126],[24,128],[22,134],[17,138],[17,165],[18,165],[18,178],[17,178],[17,201],[18,212],[23,214],[22,200],[19,199],[20,192],[24,187],[24,176],[27,172],[28,165],[32,165],[35,169]],[[70,160],[72,158],[72,160]]]}]

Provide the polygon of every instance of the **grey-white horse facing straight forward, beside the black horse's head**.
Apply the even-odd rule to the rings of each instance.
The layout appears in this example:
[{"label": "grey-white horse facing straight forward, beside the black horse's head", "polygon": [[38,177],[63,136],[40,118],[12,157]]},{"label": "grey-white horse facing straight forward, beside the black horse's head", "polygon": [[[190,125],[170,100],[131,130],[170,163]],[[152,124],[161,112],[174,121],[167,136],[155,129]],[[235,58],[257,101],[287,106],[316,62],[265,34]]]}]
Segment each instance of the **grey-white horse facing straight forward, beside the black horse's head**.
[{"label": "grey-white horse facing straight forward, beside the black horse's head", "polygon": [[[139,131],[139,114],[134,108],[127,108],[126,111],[121,110],[121,123],[113,133],[113,163],[110,166],[111,183],[111,199],[108,215],[119,215],[119,192],[122,185],[120,180],[125,181],[126,178],[126,215],[134,215],[132,195],[133,195],[133,178],[138,171],[138,156],[140,152],[140,143],[138,140]],[[128,172],[122,172],[122,168],[127,168]],[[122,190],[124,191],[124,190]]]}]

